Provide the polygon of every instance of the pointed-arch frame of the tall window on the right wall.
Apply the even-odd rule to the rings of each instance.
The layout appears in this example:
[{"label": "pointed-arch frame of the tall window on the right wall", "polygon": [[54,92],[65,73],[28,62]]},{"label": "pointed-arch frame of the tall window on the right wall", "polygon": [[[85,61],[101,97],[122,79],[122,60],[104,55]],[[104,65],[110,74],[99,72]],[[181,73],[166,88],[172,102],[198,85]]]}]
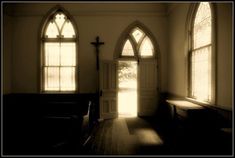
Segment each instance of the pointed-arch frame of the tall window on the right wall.
[{"label": "pointed-arch frame of the tall window on the right wall", "polygon": [[[195,3],[191,4],[189,7],[189,12],[188,12],[188,17],[186,21],[186,28],[187,28],[187,81],[188,81],[188,86],[187,86],[187,97],[186,99],[192,100],[194,102],[197,102],[199,104],[204,104],[204,105],[209,105],[209,106],[214,106],[216,105],[217,98],[216,98],[216,13],[215,13],[215,4],[212,2],[207,2],[210,6],[210,13],[211,13],[211,99],[207,101],[203,100],[198,100],[193,96],[193,90],[192,90],[192,54],[194,51],[193,48],[193,42],[194,42],[194,34],[193,34],[193,29],[194,29],[194,21],[196,19],[197,11],[199,8],[200,3]],[[207,46],[207,45],[205,45]],[[204,47],[204,46],[203,46]],[[196,49],[200,49],[203,47],[199,47]]]}]

